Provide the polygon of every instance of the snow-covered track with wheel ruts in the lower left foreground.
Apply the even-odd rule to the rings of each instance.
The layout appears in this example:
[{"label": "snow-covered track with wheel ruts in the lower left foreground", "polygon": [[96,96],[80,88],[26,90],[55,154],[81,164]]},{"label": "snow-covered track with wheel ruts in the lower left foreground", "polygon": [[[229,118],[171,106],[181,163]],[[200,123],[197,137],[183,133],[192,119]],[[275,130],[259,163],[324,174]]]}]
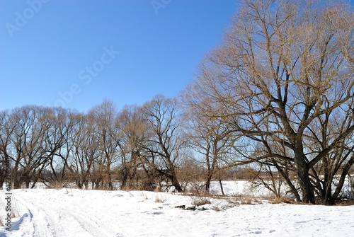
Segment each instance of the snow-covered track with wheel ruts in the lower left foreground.
[{"label": "snow-covered track with wheel ruts in the lower left foreground", "polygon": [[14,223],[11,236],[115,236],[92,213],[68,206],[65,196],[53,198],[55,190],[39,190],[38,194],[31,191],[16,193],[16,207],[22,217]]}]

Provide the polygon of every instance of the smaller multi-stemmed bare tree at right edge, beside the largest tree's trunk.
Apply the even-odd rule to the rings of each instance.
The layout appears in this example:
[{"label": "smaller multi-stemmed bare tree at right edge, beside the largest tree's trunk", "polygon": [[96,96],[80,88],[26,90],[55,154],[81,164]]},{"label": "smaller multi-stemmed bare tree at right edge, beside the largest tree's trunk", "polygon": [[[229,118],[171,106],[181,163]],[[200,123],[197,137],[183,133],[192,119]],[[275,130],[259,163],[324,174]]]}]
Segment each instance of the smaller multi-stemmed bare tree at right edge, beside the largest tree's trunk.
[{"label": "smaller multi-stemmed bare tree at right edge, beside the largest tree's trunk", "polygon": [[[353,107],[353,99],[348,100],[348,108]],[[331,141],[353,125],[353,112],[343,111],[331,115],[332,111],[321,115],[309,126],[306,142],[313,153],[330,146]],[[315,192],[326,204],[333,204],[340,195],[350,167],[354,163],[353,136],[347,136],[329,151],[310,170]],[[335,190],[332,188],[335,187]]]}]

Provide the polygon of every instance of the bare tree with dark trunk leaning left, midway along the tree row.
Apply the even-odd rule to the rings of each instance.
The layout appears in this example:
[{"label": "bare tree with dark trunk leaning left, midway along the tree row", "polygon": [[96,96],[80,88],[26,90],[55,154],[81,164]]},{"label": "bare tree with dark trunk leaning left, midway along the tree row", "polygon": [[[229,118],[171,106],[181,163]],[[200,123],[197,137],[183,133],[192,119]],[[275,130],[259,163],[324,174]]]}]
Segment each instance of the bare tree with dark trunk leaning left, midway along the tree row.
[{"label": "bare tree with dark trunk leaning left, midway along the tree row", "polygon": [[176,100],[156,95],[142,108],[144,121],[147,122],[149,137],[144,144],[144,157],[157,177],[165,176],[176,189],[182,192],[176,168],[182,139],[178,137],[178,119]]}]

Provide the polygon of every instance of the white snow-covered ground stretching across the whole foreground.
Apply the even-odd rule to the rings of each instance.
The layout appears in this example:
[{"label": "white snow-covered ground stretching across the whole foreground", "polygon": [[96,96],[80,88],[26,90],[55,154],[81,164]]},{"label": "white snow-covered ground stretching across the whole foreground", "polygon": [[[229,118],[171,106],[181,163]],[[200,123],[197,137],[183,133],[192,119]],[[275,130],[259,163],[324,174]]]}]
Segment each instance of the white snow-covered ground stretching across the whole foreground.
[{"label": "white snow-covered ground stretching across the whole foreground", "polygon": [[[244,183],[228,183],[238,194]],[[354,206],[237,204],[176,193],[14,190],[13,230],[0,236],[353,236]],[[3,197],[4,195],[1,195]],[[4,198],[0,205],[4,207]],[[176,208],[185,206],[186,209]],[[0,215],[4,216],[1,209]]]}]

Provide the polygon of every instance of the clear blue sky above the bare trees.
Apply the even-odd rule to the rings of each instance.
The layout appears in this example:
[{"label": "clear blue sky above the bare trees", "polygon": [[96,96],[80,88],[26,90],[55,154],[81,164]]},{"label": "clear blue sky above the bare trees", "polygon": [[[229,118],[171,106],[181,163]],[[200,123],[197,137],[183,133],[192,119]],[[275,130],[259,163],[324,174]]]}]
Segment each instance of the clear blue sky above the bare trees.
[{"label": "clear blue sky above the bare trees", "polygon": [[122,108],[156,93],[176,96],[221,42],[236,5],[1,0],[0,110],[34,104],[85,112],[104,98]]}]

